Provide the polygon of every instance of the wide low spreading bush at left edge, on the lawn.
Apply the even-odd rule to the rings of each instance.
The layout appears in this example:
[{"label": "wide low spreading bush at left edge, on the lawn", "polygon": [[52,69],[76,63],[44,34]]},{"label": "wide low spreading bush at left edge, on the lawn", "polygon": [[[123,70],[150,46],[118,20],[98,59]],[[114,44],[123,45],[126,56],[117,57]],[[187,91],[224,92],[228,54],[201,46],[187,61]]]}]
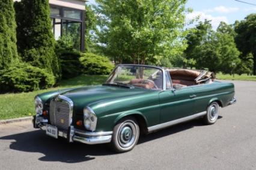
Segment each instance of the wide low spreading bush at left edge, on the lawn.
[{"label": "wide low spreading bush at left edge, on the lawn", "polygon": [[46,70],[20,63],[0,71],[0,92],[34,91],[52,87],[55,77]]}]

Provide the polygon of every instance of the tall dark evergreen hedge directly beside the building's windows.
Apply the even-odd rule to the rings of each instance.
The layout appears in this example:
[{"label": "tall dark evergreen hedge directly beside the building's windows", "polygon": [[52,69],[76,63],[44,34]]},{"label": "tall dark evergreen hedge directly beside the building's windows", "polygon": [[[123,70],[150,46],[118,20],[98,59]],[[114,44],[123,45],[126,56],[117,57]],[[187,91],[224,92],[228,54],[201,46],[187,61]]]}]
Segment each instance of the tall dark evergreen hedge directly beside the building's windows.
[{"label": "tall dark evergreen hedge directly beside the building's windows", "polygon": [[15,2],[17,46],[23,61],[46,68],[59,76],[59,61],[55,55],[55,40],[50,22],[47,0],[22,0]]}]

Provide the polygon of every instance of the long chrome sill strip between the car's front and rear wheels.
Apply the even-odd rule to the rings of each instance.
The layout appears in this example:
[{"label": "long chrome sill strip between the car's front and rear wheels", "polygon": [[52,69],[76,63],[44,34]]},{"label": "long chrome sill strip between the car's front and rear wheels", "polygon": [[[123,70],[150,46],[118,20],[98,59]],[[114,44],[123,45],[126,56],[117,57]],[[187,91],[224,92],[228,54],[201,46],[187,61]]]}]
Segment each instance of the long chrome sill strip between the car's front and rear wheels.
[{"label": "long chrome sill strip between the car's front and rear wheels", "polygon": [[203,115],[206,115],[206,111],[200,112],[200,113],[195,114],[195,115],[190,115],[188,117],[184,117],[184,118],[180,118],[180,119],[177,119],[177,120],[172,120],[172,121],[168,121],[166,123],[157,124],[155,126],[148,127],[148,132],[153,132],[154,130],[163,129],[165,127],[172,126],[174,124],[178,124],[178,123],[182,123],[182,122],[185,122],[185,121],[193,120],[194,118],[201,117]]}]

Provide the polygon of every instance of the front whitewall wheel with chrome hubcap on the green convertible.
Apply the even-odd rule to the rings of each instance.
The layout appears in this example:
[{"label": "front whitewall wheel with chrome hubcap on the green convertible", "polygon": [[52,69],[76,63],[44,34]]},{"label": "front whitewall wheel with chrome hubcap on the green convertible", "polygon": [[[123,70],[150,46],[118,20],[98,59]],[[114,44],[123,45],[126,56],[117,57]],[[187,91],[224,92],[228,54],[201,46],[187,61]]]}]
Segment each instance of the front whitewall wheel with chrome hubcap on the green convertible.
[{"label": "front whitewall wheel with chrome hubcap on the green convertible", "polygon": [[132,150],[139,139],[139,126],[135,118],[127,117],[115,125],[111,147],[118,153]]}]

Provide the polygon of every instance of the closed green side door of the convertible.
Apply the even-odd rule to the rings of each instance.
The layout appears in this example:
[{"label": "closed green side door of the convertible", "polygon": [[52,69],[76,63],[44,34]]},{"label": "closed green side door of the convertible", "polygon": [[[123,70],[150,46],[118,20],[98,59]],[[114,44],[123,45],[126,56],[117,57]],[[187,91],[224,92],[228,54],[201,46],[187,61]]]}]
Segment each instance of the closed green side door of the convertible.
[{"label": "closed green side door of the convertible", "polygon": [[[166,76],[166,82],[170,77]],[[195,114],[194,90],[191,87],[183,87],[173,90],[172,86],[159,93],[160,123],[165,123],[179,118]]]}]

